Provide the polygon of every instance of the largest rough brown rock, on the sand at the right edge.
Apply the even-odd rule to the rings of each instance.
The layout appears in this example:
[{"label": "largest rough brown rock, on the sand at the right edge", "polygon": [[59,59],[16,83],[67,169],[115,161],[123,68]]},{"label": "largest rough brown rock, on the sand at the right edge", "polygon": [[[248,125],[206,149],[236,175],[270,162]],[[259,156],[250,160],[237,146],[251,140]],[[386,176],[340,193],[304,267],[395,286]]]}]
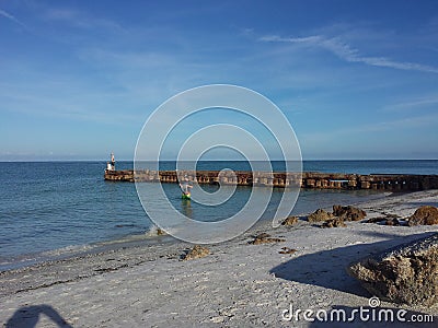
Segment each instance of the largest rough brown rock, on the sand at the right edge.
[{"label": "largest rough brown rock, on the sand at the right edge", "polygon": [[438,303],[438,233],[366,258],[347,271],[381,300],[431,306]]}]

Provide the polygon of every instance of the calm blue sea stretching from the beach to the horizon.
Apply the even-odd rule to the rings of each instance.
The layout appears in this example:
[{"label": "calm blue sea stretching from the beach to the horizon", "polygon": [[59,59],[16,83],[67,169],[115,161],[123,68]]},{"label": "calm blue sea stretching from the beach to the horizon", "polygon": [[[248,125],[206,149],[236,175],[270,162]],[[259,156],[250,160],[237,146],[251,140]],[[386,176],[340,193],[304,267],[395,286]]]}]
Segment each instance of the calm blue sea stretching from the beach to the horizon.
[{"label": "calm blue sea stretching from the beach to the horizon", "polygon": [[[117,169],[132,168],[132,162],[117,162]],[[273,162],[274,171],[284,163]],[[154,224],[143,210],[135,184],[105,181],[105,162],[0,162],[0,271],[47,259],[71,256],[93,247],[124,241],[158,243]],[[160,162],[160,169],[174,169],[174,162]],[[249,169],[244,161],[200,161],[197,169]],[[357,174],[438,174],[437,160],[422,161],[304,161],[304,172]],[[148,184],[150,195],[158,184]],[[176,184],[163,184],[175,210],[185,213]],[[215,186],[205,186],[214,192]],[[223,207],[192,202],[191,218],[220,221],[239,211],[251,187],[238,187],[233,201]],[[278,206],[273,199],[261,221],[268,221]],[[388,194],[367,190],[301,190],[291,214],[303,214],[334,203],[351,204]],[[160,204],[155,204],[160,209]],[[169,238],[166,239],[170,241]],[[172,241],[170,241],[172,242]],[[177,241],[173,241],[177,242]]]}]

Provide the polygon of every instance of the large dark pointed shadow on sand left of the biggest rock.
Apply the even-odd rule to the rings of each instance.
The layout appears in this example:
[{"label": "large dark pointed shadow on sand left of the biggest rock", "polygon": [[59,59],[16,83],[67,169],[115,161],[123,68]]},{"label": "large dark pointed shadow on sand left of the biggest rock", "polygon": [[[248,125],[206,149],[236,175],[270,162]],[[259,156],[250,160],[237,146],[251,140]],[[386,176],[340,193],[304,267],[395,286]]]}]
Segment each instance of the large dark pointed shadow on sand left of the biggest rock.
[{"label": "large dark pointed shadow on sand left of the biggest rock", "polygon": [[394,246],[424,238],[428,235],[430,233],[403,237],[388,235],[387,237],[391,239],[316,251],[293,258],[273,268],[269,272],[285,280],[369,297],[369,293],[361,288],[360,282],[347,273],[347,266],[367,256],[377,255]]}]

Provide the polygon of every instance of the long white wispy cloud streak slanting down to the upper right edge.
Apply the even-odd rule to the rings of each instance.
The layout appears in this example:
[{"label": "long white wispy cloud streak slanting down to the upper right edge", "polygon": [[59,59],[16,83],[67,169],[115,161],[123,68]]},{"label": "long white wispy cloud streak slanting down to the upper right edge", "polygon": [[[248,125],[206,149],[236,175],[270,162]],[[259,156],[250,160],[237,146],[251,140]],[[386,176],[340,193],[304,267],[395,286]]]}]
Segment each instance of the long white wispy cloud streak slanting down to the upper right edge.
[{"label": "long white wispy cloud streak slanting down to the upper right edge", "polygon": [[387,67],[399,70],[420,71],[438,73],[438,68],[407,61],[394,61],[385,57],[362,56],[358,49],[353,48],[339,37],[325,37],[322,35],[312,35],[307,37],[280,37],[277,35],[263,36],[261,42],[288,43],[303,45],[308,47],[318,47],[331,51],[338,58],[348,62],[361,62],[368,66]]}]

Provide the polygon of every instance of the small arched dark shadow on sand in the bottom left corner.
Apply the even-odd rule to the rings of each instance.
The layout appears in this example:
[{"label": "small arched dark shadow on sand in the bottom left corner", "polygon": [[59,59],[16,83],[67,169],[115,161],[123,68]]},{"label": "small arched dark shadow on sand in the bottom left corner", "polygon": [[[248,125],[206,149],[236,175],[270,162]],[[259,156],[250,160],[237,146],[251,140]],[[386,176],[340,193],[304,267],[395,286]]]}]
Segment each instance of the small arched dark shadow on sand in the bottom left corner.
[{"label": "small arched dark shadow on sand in the bottom left corner", "polygon": [[19,308],[5,324],[7,328],[34,328],[39,321],[39,316],[44,314],[58,327],[72,328],[60,314],[50,305],[32,305]]}]

